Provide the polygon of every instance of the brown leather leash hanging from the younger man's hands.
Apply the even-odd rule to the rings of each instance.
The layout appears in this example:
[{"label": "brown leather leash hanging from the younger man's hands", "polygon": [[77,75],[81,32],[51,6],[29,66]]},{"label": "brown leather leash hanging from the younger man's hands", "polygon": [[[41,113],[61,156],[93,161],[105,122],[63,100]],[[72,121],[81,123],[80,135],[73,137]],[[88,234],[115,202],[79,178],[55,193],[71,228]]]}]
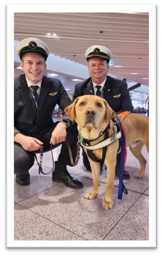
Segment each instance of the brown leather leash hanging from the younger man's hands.
[{"label": "brown leather leash hanging from the younger man's hands", "polygon": [[[75,163],[74,163],[74,160],[73,160],[73,157],[72,157],[72,152],[71,152],[71,148],[70,148],[70,145],[68,144],[68,142],[65,140],[66,144],[67,144],[67,147],[68,147],[68,151],[69,151],[69,155],[70,155],[70,161],[71,161],[71,165],[72,166],[75,166],[77,165],[79,159],[80,159],[80,147],[81,147],[81,144],[80,144],[80,138],[78,136],[78,141],[77,141],[77,152],[76,152],[76,160],[75,160]],[[52,144],[51,144],[51,154],[52,154],[52,162],[53,162],[53,167],[52,167],[52,170],[50,172],[43,172],[43,169],[41,167],[42,165],[42,159],[43,159],[43,146],[40,146],[40,163],[37,161],[37,157],[36,157],[36,154],[35,154],[35,159],[36,159],[36,162],[37,162],[37,165],[39,166],[39,178],[40,178],[40,172],[42,174],[50,174],[53,170],[54,170],[54,159],[53,159],[53,153],[52,153]]]}]

